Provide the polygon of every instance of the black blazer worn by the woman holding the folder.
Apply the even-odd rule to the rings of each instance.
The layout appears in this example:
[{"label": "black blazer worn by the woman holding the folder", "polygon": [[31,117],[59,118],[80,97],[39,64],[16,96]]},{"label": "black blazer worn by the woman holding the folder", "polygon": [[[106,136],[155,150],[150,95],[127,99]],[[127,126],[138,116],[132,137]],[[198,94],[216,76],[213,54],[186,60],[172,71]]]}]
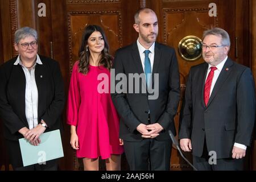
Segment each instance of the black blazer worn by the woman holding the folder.
[{"label": "black blazer worn by the woman holding the folder", "polygon": [[[39,56],[42,65],[35,67],[38,88],[38,123],[43,119],[45,132],[63,129],[61,113],[64,107],[64,84],[59,63]],[[18,130],[28,128],[25,114],[26,77],[22,67],[14,65],[17,56],[0,67],[0,115],[4,124],[4,136],[9,140],[23,138]]]}]

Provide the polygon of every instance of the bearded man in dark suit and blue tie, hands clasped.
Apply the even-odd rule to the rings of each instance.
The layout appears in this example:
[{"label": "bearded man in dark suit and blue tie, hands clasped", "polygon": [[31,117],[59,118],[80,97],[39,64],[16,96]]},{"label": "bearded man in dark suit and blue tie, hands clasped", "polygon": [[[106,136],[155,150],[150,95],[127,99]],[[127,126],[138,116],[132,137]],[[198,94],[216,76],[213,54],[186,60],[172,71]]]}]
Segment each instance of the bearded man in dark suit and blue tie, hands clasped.
[{"label": "bearded man in dark suit and blue tie, hands clasped", "polygon": [[[141,9],[134,18],[139,38],[118,49],[113,64],[115,75],[122,73],[127,78],[119,90],[115,82],[112,94],[121,117],[120,138],[131,170],[169,170],[172,143],[168,130],[175,133],[180,98],[177,59],[173,48],[155,42],[158,19],[154,11]],[[135,78],[134,83],[131,75],[140,75],[142,82]]]}]

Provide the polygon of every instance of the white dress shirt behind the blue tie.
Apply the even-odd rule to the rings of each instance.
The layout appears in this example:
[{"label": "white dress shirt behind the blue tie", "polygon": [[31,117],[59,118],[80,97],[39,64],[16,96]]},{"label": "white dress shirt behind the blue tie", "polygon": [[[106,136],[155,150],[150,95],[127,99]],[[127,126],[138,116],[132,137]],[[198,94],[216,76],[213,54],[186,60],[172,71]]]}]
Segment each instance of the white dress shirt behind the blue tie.
[{"label": "white dress shirt behind the blue tie", "polygon": [[[138,49],[139,49],[139,57],[141,57],[141,64],[142,64],[142,68],[144,71],[145,68],[145,53],[144,51],[147,50],[146,48],[144,48],[141,43],[139,43],[139,39],[137,39],[137,45],[138,45]],[[148,50],[150,50],[150,53],[148,54],[148,57],[150,59],[150,65],[151,65],[151,73],[153,70],[153,65],[154,65],[154,57],[155,57],[155,43],[152,44],[152,46],[150,46],[150,48],[148,48]],[[145,71],[144,71],[145,72]]]}]

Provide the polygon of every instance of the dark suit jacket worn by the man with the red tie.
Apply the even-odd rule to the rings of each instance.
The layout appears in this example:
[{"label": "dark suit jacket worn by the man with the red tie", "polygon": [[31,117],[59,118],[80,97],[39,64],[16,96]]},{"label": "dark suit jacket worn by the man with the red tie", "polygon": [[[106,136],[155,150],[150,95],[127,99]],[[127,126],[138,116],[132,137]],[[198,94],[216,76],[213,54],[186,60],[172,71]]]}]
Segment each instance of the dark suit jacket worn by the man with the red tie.
[{"label": "dark suit jacket worn by the man with the red tie", "polygon": [[179,138],[191,139],[195,156],[203,154],[206,139],[208,151],[216,151],[217,159],[230,158],[235,142],[250,145],[255,120],[253,76],[249,68],[228,58],[205,106],[207,69],[203,63],[189,72]]}]

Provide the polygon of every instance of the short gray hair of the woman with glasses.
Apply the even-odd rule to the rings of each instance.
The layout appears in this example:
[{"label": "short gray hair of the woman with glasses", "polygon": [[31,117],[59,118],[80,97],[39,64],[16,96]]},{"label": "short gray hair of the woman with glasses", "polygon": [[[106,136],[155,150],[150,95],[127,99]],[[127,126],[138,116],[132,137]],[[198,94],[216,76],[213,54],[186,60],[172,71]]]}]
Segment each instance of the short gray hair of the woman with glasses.
[{"label": "short gray hair of the woman with glasses", "polygon": [[38,40],[38,32],[30,27],[22,27],[16,30],[14,34],[15,43],[19,43],[21,39],[27,38],[28,36],[34,36],[36,40]]}]

